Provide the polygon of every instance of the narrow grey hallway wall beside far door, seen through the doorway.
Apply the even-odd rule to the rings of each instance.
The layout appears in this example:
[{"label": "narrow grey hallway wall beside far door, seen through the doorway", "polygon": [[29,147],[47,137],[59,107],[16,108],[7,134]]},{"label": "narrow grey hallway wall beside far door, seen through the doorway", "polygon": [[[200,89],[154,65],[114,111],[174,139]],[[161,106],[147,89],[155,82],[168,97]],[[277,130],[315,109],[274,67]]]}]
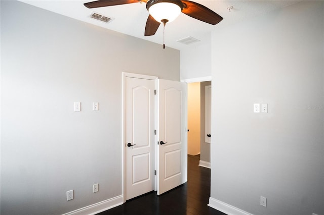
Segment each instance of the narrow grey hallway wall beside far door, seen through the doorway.
[{"label": "narrow grey hallway wall beside far door, seen through the doorway", "polygon": [[[205,142],[205,87],[212,85],[211,81],[200,82],[200,160],[211,162],[210,148],[211,143]],[[213,139],[212,139],[213,141]]]}]

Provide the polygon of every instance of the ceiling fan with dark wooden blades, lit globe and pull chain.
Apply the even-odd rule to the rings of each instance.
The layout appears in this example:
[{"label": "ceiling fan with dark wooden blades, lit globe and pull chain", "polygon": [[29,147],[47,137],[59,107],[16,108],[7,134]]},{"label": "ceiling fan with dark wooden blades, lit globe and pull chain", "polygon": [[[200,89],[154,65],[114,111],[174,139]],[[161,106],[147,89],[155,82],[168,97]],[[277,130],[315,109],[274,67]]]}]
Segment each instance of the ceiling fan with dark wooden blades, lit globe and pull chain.
[{"label": "ceiling fan with dark wooden blades, lit globe and pull chain", "polygon": [[[87,8],[100,8],[139,2],[146,3],[146,9],[149,12],[144,36],[154,35],[161,23],[166,26],[166,23],[175,20],[181,12],[212,25],[216,25],[223,19],[223,17],[209,8],[187,0],[99,0],[85,3],[84,5]],[[163,48],[165,48],[164,44]]]}]

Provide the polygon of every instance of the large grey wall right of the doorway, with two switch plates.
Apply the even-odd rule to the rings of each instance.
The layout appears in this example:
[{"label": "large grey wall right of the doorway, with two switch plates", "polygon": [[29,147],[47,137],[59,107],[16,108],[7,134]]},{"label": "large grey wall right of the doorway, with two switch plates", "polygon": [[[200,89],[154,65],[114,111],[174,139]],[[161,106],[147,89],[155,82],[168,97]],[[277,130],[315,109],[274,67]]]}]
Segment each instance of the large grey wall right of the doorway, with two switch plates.
[{"label": "large grey wall right of the doorway, with two switch plates", "polygon": [[212,198],[253,214],[324,214],[323,4],[213,32]]}]

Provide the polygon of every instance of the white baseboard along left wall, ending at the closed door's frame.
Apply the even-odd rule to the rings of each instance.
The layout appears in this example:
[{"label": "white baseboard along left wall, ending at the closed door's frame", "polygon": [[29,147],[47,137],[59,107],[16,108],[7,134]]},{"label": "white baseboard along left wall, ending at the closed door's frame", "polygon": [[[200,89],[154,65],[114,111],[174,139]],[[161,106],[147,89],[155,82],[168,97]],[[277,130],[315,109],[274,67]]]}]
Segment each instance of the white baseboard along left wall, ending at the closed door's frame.
[{"label": "white baseboard along left wall, ending at the closed door's frame", "polygon": [[73,210],[71,212],[68,213],[64,213],[63,215],[93,215],[93,214],[97,214],[100,213],[102,211],[108,210],[110,208],[119,206],[121,204],[123,204],[123,195],[120,196],[116,196],[114,198],[111,199],[107,199],[83,208],[79,208],[76,210]]}]

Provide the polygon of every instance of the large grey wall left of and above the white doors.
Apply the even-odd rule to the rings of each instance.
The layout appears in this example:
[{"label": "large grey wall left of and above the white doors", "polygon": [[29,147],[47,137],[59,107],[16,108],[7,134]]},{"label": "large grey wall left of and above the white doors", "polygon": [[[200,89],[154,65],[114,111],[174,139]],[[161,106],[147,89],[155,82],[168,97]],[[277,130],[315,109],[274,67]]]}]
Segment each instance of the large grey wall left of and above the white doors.
[{"label": "large grey wall left of and above the white doors", "polygon": [[1,214],[61,214],[123,194],[121,73],[179,80],[179,62],[179,50],[1,1]]}]

